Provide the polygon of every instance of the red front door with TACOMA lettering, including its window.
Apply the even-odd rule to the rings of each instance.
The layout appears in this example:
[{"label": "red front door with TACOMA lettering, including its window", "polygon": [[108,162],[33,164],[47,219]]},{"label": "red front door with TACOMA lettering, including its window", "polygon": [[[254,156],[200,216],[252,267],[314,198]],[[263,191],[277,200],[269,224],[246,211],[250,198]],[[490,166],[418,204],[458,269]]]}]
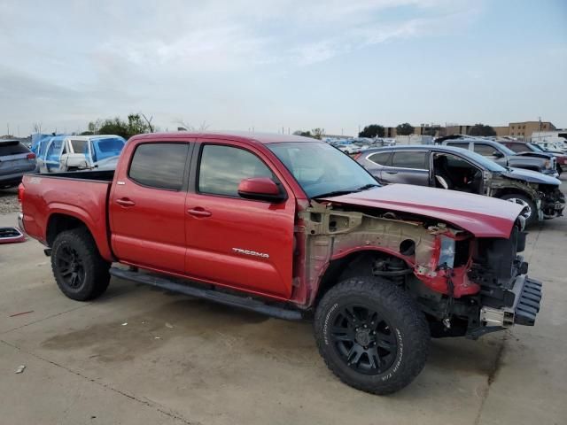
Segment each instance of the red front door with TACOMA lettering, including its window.
[{"label": "red front door with TACOMA lettering, including its window", "polygon": [[[187,196],[186,273],[241,290],[289,298],[295,199],[260,152],[203,141]],[[277,204],[245,199],[238,184],[268,177],[288,197]]]}]

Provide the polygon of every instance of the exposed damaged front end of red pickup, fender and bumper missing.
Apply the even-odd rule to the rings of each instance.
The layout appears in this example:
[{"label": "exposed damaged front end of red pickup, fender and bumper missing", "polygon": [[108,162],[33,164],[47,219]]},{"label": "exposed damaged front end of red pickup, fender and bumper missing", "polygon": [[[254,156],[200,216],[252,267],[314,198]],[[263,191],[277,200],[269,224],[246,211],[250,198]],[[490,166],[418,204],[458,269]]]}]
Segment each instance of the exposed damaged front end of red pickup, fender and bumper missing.
[{"label": "exposed damaged front end of red pickup, fender and bumper missing", "polygon": [[527,277],[520,255],[521,216],[509,237],[478,237],[431,216],[311,201],[299,213],[296,235],[306,263],[306,305],[335,282],[374,275],[415,298],[432,336],[477,338],[533,325],[540,310],[541,283]]}]

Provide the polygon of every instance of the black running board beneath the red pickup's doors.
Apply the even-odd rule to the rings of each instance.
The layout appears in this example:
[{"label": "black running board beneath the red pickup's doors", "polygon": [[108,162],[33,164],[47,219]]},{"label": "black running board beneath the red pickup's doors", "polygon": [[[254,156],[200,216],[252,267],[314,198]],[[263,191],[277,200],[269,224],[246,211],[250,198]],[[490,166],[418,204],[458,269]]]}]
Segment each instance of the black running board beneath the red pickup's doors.
[{"label": "black running board beneath the red pickup's doors", "polygon": [[110,274],[120,279],[126,279],[127,281],[144,283],[163,290],[171,290],[172,292],[189,295],[190,297],[204,298],[216,303],[244,308],[245,310],[267,314],[268,316],[283,319],[285,321],[300,321],[303,318],[302,314],[295,310],[276,307],[274,305],[266,305],[257,299],[238,297],[236,295],[227,294],[217,290],[196,288],[194,286],[179,283],[179,279],[168,278],[167,276],[133,272],[118,267],[111,267]]}]

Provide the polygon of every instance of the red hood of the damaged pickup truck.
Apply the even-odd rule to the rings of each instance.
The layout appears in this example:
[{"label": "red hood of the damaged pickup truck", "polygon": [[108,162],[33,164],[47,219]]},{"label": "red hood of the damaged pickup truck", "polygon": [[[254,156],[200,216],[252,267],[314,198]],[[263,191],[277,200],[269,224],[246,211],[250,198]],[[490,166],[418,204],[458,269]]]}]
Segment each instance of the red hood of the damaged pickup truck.
[{"label": "red hood of the damaged pickup truck", "polygon": [[493,197],[408,184],[389,184],[325,200],[431,217],[454,224],[477,237],[508,238],[522,211],[520,205]]}]

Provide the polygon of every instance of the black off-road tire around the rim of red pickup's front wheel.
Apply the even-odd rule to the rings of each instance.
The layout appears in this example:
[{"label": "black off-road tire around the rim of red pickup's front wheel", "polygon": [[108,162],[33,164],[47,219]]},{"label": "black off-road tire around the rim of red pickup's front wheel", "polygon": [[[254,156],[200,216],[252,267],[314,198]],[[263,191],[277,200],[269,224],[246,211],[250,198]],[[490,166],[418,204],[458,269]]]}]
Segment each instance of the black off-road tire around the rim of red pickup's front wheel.
[{"label": "black off-road tire around the rim of red pickup's front wheel", "polygon": [[[341,342],[333,339],[331,329],[337,328],[340,312],[349,305],[368,305],[380,314],[397,344],[395,354],[391,354],[392,364],[375,375],[354,370],[352,363],[349,366],[338,349]],[[406,292],[392,282],[361,276],[339,282],[323,296],[315,311],[315,340],[327,367],[343,383],[385,395],[401,390],[422,371],[429,353],[430,329],[419,306]]]}]

